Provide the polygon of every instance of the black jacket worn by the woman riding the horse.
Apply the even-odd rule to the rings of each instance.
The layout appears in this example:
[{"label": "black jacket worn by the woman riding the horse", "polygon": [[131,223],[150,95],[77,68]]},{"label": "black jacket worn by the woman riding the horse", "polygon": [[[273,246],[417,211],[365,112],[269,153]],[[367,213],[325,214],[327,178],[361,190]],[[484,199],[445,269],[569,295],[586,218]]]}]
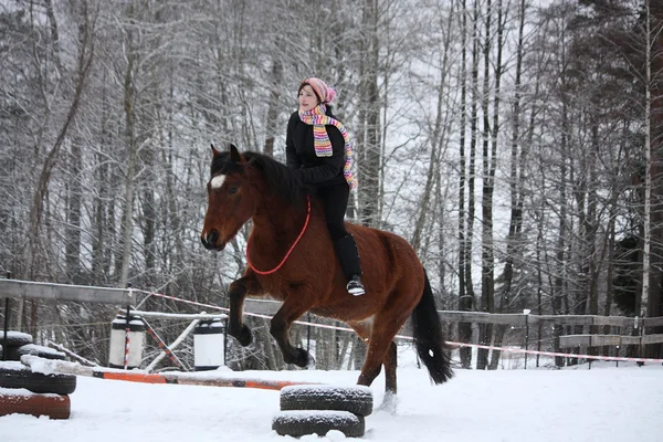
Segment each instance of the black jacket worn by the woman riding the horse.
[{"label": "black jacket worn by the woman riding the horse", "polygon": [[[335,118],[327,109],[327,115]],[[345,141],[336,126],[327,125],[327,135],[332,141],[332,156],[318,157],[313,146],[313,126],[299,119],[294,112],[287,122],[285,137],[285,158],[290,168],[298,170],[305,185],[326,187],[346,182],[343,175],[345,165]]]}]

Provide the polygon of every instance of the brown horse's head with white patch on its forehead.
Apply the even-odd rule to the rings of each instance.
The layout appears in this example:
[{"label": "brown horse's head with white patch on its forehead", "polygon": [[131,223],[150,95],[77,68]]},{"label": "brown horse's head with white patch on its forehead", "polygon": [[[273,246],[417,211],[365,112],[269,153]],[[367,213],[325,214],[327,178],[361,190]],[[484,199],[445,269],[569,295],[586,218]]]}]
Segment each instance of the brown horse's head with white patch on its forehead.
[{"label": "brown horse's head with white patch on its forehead", "polygon": [[223,250],[255,213],[257,203],[250,186],[248,166],[234,145],[230,145],[228,152],[220,152],[212,146],[208,210],[200,235],[208,250]]}]

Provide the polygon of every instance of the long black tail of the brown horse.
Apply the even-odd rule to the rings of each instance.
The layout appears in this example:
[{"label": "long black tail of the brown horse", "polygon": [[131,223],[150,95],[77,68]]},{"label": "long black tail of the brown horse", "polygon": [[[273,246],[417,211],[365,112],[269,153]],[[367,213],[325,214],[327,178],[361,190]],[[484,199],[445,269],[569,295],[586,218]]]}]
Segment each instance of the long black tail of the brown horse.
[{"label": "long black tail of the brown horse", "polygon": [[417,354],[429,370],[435,383],[442,383],[453,376],[451,360],[444,351],[442,325],[435,308],[435,298],[428,275],[424,271],[425,285],[423,295],[412,312],[412,335]]}]

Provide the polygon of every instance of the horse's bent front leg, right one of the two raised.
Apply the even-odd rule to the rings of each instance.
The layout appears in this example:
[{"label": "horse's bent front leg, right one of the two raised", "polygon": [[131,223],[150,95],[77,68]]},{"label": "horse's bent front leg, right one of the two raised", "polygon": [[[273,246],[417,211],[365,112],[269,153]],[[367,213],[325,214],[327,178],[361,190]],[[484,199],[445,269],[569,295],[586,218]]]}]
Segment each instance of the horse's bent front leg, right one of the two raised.
[{"label": "horse's bent front leg, right one of the two raised", "polygon": [[[296,302],[293,302],[293,298],[296,299]],[[314,359],[308,351],[303,348],[293,347],[288,336],[291,325],[311,307],[312,305],[305,303],[301,297],[291,296],[283,303],[278,312],[276,312],[272,318],[270,333],[276,340],[276,344],[278,344],[281,352],[283,354],[283,360],[286,364],[306,367],[314,362]]]}]

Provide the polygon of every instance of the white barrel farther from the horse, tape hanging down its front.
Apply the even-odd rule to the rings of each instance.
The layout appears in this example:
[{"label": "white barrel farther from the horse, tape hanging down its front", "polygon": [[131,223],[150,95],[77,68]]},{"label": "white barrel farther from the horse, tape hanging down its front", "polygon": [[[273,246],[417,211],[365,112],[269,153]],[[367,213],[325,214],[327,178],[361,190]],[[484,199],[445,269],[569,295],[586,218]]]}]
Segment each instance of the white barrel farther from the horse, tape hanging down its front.
[{"label": "white barrel farther from the horse, tape hanging down its front", "polygon": [[[126,352],[127,320],[125,315],[117,315],[110,326],[110,350],[108,367],[124,368]],[[129,315],[129,352],[127,369],[140,367],[145,348],[145,324],[140,316]]]}]

